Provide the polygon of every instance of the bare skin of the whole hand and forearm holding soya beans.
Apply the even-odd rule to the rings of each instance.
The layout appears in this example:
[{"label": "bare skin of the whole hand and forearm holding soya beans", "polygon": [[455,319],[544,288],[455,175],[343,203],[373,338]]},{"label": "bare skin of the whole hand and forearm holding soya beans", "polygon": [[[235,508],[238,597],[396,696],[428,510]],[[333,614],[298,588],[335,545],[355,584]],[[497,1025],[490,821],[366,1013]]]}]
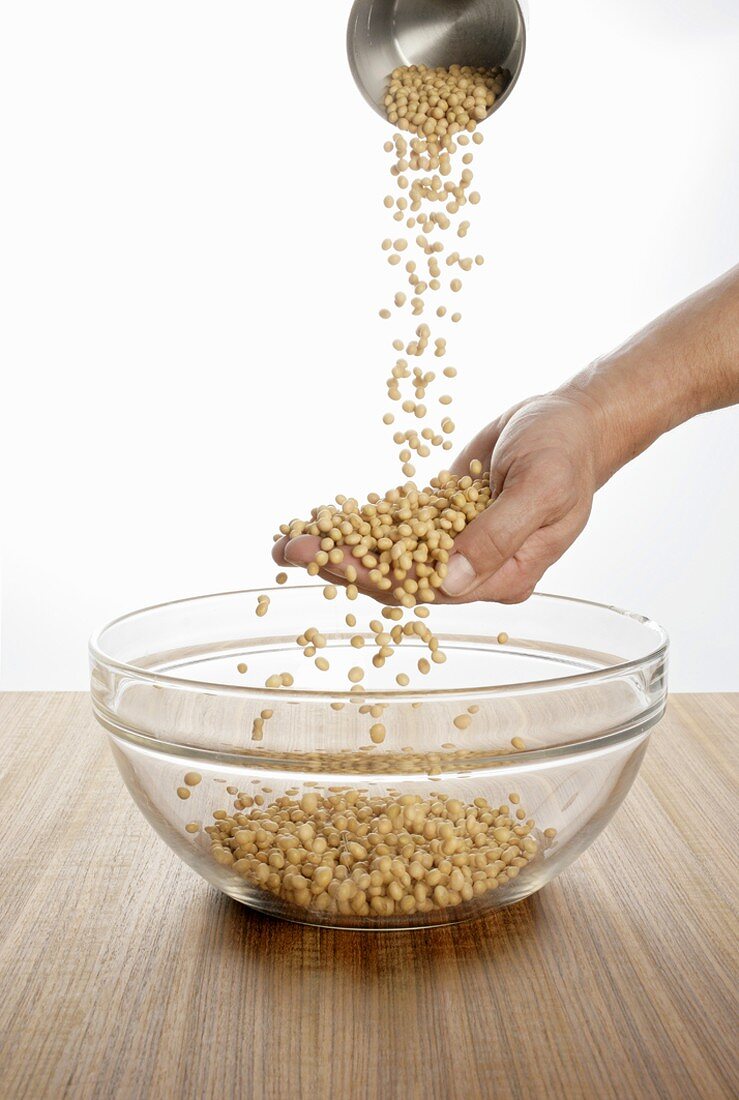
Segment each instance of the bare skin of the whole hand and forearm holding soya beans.
[{"label": "bare skin of the whole hand and forearm holding soya beans", "polygon": [[[494,501],[455,539],[439,602],[520,603],[587,524],[621,466],[694,416],[739,403],[739,266],[663,314],[550,394],[487,425],[455,460],[489,468]],[[318,539],[280,539],[280,565],[306,565]],[[394,603],[357,569],[361,591]],[[343,565],[321,571],[342,583]]]}]

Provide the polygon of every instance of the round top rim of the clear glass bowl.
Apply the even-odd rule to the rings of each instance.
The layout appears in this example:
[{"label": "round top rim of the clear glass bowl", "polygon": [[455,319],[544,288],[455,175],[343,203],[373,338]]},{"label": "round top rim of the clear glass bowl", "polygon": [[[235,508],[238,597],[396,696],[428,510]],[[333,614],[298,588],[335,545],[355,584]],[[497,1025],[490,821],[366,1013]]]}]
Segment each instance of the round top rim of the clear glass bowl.
[{"label": "round top rim of the clear glass bowl", "polygon": [[[150,612],[162,610],[164,608],[183,606],[186,604],[199,603],[206,600],[223,598],[228,596],[252,596],[257,594],[264,594],[269,592],[285,593],[285,592],[300,592],[300,591],[317,591],[322,588],[324,585],[321,584],[295,584],[289,587],[271,585],[267,587],[260,588],[234,588],[225,592],[210,592],[197,596],[185,596],[179,600],[168,600],[161,604],[150,604],[146,607],[139,607],[135,610],[126,612],[123,615],[119,615],[106,623],[99,629],[93,631],[90,636],[88,642],[88,654],[93,663],[103,666],[104,668],[115,670],[117,672],[123,672],[129,675],[135,676],[137,680],[144,680],[150,683],[159,684],[162,686],[167,685],[170,688],[178,688],[181,690],[186,689],[197,689],[208,692],[217,692],[219,694],[235,694],[236,696],[257,696],[260,698],[282,698],[282,700],[304,700],[306,702],[319,702],[319,701],[343,701],[355,700],[356,694],[351,691],[344,691],[340,689],[335,690],[316,690],[316,689],[305,689],[305,688],[261,688],[252,684],[223,684],[214,681],[208,680],[191,680],[186,676],[173,676],[163,672],[154,672],[151,669],[144,669],[139,664],[131,664],[126,661],[120,661],[114,657],[111,657],[104,651],[101,646],[100,639],[106,634],[107,630],[112,629],[126,619],[133,619],[140,615],[145,615]],[[563,596],[555,593],[549,592],[534,592],[526,603],[529,601],[555,601],[558,603],[577,604],[584,607],[595,607],[598,610],[608,612],[613,615],[618,615],[624,618],[633,619],[635,622],[641,624],[653,630],[658,638],[659,644],[649,652],[644,653],[642,657],[632,658],[629,661],[620,661],[614,664],[609,664],[603,669],[593,669],[587,672],[576,672],[572,675],[565,676],[551,676],[545,680],[532,680],[532,681],[519,681],[516,683],[498,684],[482,688],[424,688],[424,689],[391,689],[387,691],[367,691],[367,700],[388,700],[395,702],[411,702],[413,700],[432,698],[434,701],[453,700],[453,698],[468,698],[468,697],[488,697],[488,696],[500,696],[500,695],[515,695],[523,692],[539,692],[539,691],[551,691],[552,689],[564,689],[570,686],[578,686],[582,684],[593,684],[598,681],[610,680],[614,676],[620,676],[625,673],[633,672],[652,661],[663,658],[670,647],[670,639],[664,627],[660,626],[654,619],[649,618],[646,615],[641,615],[637,612],[629,612],[621,607],[617,607],[614,604],[602,604],[594,600],[582,600],[576,596]]]}]

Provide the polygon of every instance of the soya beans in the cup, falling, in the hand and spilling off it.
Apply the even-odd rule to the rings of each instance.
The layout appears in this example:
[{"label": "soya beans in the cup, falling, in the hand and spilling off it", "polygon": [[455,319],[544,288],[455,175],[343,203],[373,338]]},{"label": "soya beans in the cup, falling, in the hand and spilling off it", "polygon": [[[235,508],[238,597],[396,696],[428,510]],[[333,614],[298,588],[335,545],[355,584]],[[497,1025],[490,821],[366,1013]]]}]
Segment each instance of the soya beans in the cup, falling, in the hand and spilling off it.
[{"label": "soya beans in the cup, falling, in the hand and spilling off it", "polygon": [[[484,261],[479,254],[465,255],[456,248],[450,249],[448,239],[453,234],[456,242],[467,237],[470,221],[457,216],[467,204],[475,206],[479,201],[478,193],[471,189],[472,148],[482,143],[476,124],[487,116],[507,79],[508,74],[500,68],[412,65],[396,68],[388,80],[385,108],[398,132],[385,142],[384,148],[391,155],[389,170],[397,194],[387,195],[384,205],[393,211],[394,221],[411,232],[408,238],[388,237],[382,243],[388,264],[398,274],[404,264],[404,285],[396,289],[391,308],[384,306],[379,316],[395,323],[404,319],[410,331],[391,340],[397,358],[386,383],[388,399],[408,419],[397,426],[396,414],[388,410],[383,422],[395,426],[393,442],[399,448],[406,479],[415,476],[416,463],[429,459],[434,449],[449,451],[453,446],[455,426],[448,414],[453,396],[442,380],[451,382],[457,372],[449,362],[448,336],[442,327],[449,315],[445,302],[449,295],[462,289],[460,276]],[[426,316],[430,322],[413,323],[412,319]],[[451,322],[459,322],[461,317],[459,310],[453,310]],[[424,355],[433,359],[437,370],[420,365]],[[416,364],[411,367],[412,360]],[[446,658],[424,622],[429,614],[426,605],[435,601],[443,584],[454,538],[489,502],[488,475],[473,460],[464,476],[442,471],[424,488],[408,480],[382,497],[370,494],[363,505],[352,497],[337,496],[333,504],[313,508],[310,519],[283,524],[276,538],[318,538],[319,549],[308,563],[308,572],[316,575],[340,570],[349,600],[355,600],[362,590],[395,601],[397,606],[380,612],[385,623],[370,623],[374,636],[372,663],[383,668],[404,638],[411,637],[428,647],[429,656],[417,662],[421,675],[428,675],[432,664],[441,664]],[[337,593],[333,584],[324,588],[328,600],[335,598]],[[257,610],[263,607],[262,603]],[[411,609],[412,617],[406,618]],[[349,618],[355,622],[353,615]],[[317,652],[326,646],[319,630],[308,628],[297,642],[318,669],[329,670],[329,659]],[[363,649],[364,635],[353,636],[351,644]],[[267,684],[278,686],[284,675],[271,676]],[[351,691],[362,692],[363,678],[361,666],[350,670]],[[399,673],[396,682],[406,686],[409,678]],[[382,716],[376,713],[378,708],[368,708],[371,717]],[[468,723],[470,715],[460,715],[457,721]],[[373,744],[382,744],[385,733],[385,725],[375,722],[370,729]],[[257,739],[263,736],[263,723],[255,734]]]}]

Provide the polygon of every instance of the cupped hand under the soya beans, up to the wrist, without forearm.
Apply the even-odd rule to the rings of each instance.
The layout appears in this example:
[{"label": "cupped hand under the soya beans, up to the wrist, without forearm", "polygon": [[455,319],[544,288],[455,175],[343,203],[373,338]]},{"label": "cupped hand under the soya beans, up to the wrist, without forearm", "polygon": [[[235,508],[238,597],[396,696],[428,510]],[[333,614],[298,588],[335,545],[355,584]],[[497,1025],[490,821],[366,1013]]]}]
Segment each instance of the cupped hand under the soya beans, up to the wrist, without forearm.
[{"label": "cupped hand under the soya beans, up to the wrist, without forearm", "polygon": [[[439,603],[492,600],[518,603],[584,528],[597,487],[596,428],[586,403],[575,395],[533,397],[487,426],[464,449],[452,473],[473,459],[490,471],[493,503],[454,541]],[[300,536],[275,543],[280,565],[307,565],[319,540]],[[393,602],[356,562],[356,584]],[[344,564],[320,575],[345,583]]]}]

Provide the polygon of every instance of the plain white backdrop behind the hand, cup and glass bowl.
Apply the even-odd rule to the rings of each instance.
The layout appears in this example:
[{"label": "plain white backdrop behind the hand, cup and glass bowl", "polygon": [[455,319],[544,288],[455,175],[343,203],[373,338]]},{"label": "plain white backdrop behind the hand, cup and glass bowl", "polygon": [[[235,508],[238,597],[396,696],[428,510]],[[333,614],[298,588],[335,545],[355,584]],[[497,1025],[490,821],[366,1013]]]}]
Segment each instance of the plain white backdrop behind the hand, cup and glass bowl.
[{"label": "plain white backdrop behind the hand, cup and glass bowl", "polygon": [[[460,441],[739,258],[736,0],[532,9],[476,158]],[[265,584],[278,521],[397,481],[389,130],[348,10],[3,7],[3,688],[84,688],[107,618]],[[676,690],[739,689],[738,436],[658,442],[542,585],[659,619]]]}]

